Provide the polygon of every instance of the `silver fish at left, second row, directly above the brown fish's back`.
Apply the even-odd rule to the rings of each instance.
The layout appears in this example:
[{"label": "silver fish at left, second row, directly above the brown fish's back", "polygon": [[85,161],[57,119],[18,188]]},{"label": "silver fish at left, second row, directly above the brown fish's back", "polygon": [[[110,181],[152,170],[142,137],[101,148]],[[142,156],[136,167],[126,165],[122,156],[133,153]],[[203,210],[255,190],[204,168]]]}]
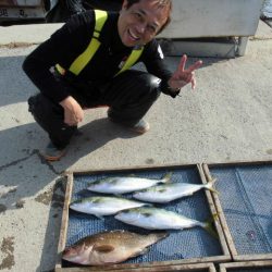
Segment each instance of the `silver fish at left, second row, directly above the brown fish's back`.
[{"label": "silver fish at left, second row, directly above the brown fish's back", "polygon": [[150,206],[150,203],[121,197],[95,196],[75,200],[70,205],[70,208],[75,211],[102,218],[103,215],[112,215],[125,209],[143,206]]}]

